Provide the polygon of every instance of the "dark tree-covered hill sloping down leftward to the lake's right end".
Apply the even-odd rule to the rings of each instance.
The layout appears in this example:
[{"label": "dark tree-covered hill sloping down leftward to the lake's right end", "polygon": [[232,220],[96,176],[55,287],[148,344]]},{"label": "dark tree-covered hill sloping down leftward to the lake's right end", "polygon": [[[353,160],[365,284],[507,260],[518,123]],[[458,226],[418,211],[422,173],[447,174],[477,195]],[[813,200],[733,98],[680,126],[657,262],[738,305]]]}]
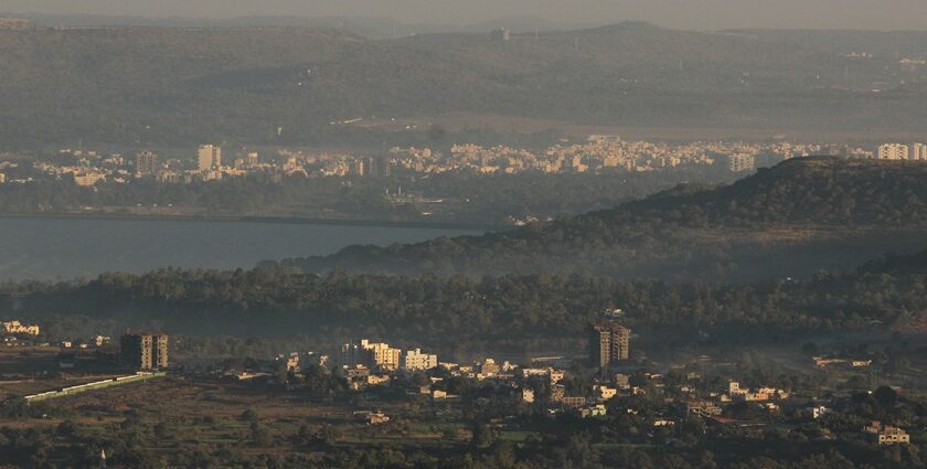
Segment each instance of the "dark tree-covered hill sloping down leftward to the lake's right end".
[{"label": "dark tree-covered hill sloping down leftward to the lake's right end", "polygon": [[732,185],[680,186],[507,233],[349,247],[309,271],[592,273],[752,281],[850,268],[927,242],[927,163],[795,159]]}]

